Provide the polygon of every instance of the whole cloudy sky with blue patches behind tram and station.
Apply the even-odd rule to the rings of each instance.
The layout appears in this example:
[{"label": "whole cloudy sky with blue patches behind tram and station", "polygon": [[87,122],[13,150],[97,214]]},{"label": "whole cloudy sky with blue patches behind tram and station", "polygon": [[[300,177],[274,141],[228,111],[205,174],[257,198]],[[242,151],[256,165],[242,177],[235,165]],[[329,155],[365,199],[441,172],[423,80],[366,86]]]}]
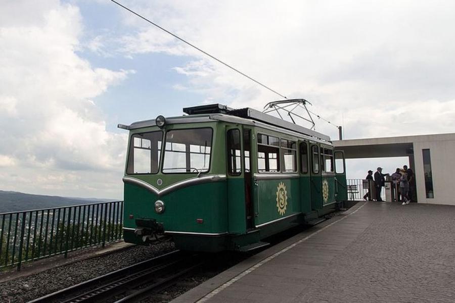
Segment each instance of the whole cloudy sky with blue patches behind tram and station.
[{"label": "whole cloudy sky with blue patches behind tram and station", "polygon": [[[345,138],[453,132],[453,1],[119,2],[309,100]],[[2,190],[121,199],[127,133],[118,123],[280,99],[111,1],[0,5]],[[379,163],[393,170],[405,160]],[[348,178],[377,163],[349,162]]]}]

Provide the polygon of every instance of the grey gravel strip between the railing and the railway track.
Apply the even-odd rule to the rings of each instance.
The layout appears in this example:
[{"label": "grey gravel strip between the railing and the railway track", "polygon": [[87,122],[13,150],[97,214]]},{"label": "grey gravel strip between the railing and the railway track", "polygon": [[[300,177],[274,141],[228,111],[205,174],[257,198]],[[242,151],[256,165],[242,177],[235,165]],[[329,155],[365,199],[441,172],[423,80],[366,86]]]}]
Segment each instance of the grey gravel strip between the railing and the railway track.
[{"label": "grey gravel strip between the railing and the railway track", "polygon": [[0,284],[0,302],[27,302],[175,250],[171,242],[133,246]]}]

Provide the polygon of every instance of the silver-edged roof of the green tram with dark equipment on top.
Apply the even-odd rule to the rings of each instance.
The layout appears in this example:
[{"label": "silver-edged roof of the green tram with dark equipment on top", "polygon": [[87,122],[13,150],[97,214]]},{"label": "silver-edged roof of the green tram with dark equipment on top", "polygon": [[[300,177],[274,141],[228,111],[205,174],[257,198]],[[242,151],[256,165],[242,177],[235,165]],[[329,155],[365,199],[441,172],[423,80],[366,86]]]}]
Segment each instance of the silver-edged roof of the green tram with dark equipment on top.
[{"label": "silver-edged roof of the green tram with dark equipment on top", "polygon": [[[251,108],[244,108],[244,109],[232,109],[225,105],[220,104],[211,104],[211,105],[203,105],[203,106],[196,106],[190,108],[184,108],[184,113],[188,114],[188,116],[177,116],[177,117],[168,117],[166,118],[166,123],[169,124],[180,124],[180,123],[195,123],[195,122],[207,122],[210,120],[218,120],[218,121],[225,121],[225,122],[234,122],[240,124],[249,124],[249,125],[257,125],[262,126],[269,125],[275,126],[276,128],[286,129],[293,132],[297,132],[314,139],[319,139],[322,141],[330,142],[330,137],[328,135],[322,134],[320,132],[316,132],[309,128],[288,122],[286,120],[264,114],[260,111],[251,109]],[[248,121],[250,123],[248,123]],[[256,123],[254,121],[257,121]],[[251,123],[253,122],[253,123]],[[122,125],[119,124],[119,128],[132,130],[144,127],[156,126],[155,120],[145,120],[145,121],[138,121],[131,123],[131,125]]]}]

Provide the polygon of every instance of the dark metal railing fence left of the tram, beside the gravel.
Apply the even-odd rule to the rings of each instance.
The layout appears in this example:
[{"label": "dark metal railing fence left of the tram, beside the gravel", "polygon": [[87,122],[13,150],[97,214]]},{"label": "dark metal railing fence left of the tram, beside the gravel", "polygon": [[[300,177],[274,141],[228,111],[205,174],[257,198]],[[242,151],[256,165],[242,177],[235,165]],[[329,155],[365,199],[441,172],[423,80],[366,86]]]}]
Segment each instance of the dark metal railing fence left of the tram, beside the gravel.
[{"label": "dark metal railing fence left of the tram, beside the gravel", "polygon": [[0,269],[122,238],[123,201],[0,214]]}]

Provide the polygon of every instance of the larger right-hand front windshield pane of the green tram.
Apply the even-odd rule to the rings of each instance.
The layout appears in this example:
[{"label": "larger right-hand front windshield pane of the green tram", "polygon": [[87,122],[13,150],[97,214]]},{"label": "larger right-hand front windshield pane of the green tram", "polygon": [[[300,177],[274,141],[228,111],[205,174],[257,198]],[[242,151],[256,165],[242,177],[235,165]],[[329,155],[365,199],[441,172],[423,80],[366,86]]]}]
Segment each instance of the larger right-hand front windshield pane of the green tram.
[{"label": "larger right-hand front windshield pane of the green tram", "polygon": [[211,128],[166,132],[163,173],[200,173],[210,169]]}]

